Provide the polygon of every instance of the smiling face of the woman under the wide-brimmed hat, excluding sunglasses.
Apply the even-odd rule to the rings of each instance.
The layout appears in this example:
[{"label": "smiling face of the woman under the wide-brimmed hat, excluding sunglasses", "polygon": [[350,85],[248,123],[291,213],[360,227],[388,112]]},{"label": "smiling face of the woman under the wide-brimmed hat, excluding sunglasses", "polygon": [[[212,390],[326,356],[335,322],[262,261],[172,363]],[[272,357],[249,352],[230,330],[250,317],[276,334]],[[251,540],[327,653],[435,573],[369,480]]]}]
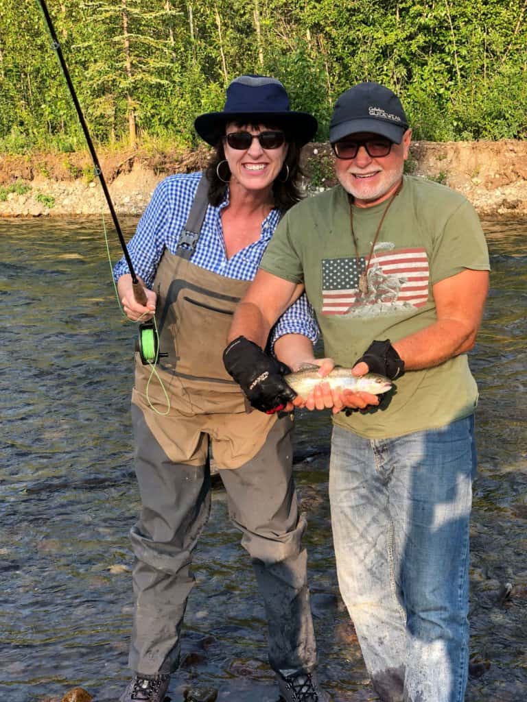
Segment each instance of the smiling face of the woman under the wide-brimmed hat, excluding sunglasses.
[{"label": "smiling face of the woman under the wide-brimmed hat, excluding sunglasses", "polygon": [[[263,131],[270,130],[275,131],[276,128],[264,124],[238,126],[238,124],[230,122],[226,126],[225,133],[247,131],[252,135],[258,135]],[[238,150],[224,142],[223,150],[232,174],[231,188],[234,185],[234,187],[241,186],[249,191],[269,190],[271,192],[273,180],[282,170],[287,155],[287,143],[282,144],[278,149],[263,149],[259,140],[253,139],[247,149]]]}]

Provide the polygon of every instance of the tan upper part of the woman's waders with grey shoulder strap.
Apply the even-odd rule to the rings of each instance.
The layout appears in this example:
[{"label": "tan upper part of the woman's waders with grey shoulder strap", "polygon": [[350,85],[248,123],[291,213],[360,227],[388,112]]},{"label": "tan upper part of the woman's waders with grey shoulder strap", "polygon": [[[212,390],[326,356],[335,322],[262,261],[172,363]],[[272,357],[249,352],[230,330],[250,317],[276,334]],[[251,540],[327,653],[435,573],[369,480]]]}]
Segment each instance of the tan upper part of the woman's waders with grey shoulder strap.
[{"label": "tan upper part of the woman's waders with grey shoulder strap", "polygon": [[[207,181],[202,178],[182,236],[194,246],[207,208]],[[181,237],[180,237],[181,241]],[[221,356],[233,312],[249,282],[223,277],[188,261],[193,249],[178,245],[165,251],[153,289],[157,293],[160,358],[157,372],[170,399],[170,411],[160,416],[146,399],[150,367],[136,353],[136,382],[132,401],[143,411],[148,428],[175,463],[203,465],[208,444],[219,468],[238,468],[261,449],[276,416],[248,406],[240,386],[223,367]],[[150,403],[163,413],[167,399],[153,378]],[[174,430],[177,418],[178,430]]]}]

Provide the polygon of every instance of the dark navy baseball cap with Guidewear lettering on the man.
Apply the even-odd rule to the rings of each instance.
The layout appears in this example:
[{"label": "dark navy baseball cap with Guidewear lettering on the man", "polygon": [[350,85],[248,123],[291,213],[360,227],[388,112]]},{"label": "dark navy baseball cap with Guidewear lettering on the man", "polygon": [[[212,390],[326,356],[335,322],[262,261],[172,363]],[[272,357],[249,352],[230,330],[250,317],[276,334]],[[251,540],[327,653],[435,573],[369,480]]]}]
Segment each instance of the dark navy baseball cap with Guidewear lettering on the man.
[{"label": "dark navy baseball cap with Guidewear lettering on the man", "polygon": [[349,134],[371,132],[400,144],[408,129],[401,100],[378,83],[359,83],[335,103],[330,122],[330,143]]}]

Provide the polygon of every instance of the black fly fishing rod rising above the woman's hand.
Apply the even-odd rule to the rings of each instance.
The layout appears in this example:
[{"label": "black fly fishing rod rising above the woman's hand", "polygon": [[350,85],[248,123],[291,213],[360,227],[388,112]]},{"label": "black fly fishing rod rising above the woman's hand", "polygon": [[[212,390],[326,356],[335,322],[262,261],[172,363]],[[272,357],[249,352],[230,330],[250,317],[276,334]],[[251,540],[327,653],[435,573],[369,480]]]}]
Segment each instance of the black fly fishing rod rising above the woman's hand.
[{"label": "black fly fishing rod rising above the woman's hand", "polygon": [[[72,96],[72,100],[73,100],[73,103],[75,105],[75,110],[77,110],[77,116],[79,117],[79,122],[81,123],[82,131],[84,132],[84,137],[86,138],[86,143],[88,144],[88,148],[90,150],[95,175],[98,177],[98,179],[100,181],[100,185],[102,185],[102,187],[103,187],[104,196],[106,198],[106,201],[108,202],[108,207],[110,208],[110,213],[112,215],[112,220],[113,220],[113,223],[115,226],[115,231],[117,232],[117,236],[119,237],[119,242],[122,246],[124,258],[126,260],[126,263],[128,264],[129,271],[131,274],[132,287],[134,289],[134,298],[136,298],[137,303],[145,306],[146,302],[147,302],[146,293],[143,289],[143,286],[138,281],[138,278],[136,276],[136,272],[134,271],[134,266],[132,265],[130,254],[128,253],[128,249],[126,247],[126,242],[124,241],[124,237],[122,234],[121,225],[119,224],[119,220],[117,218],[117,213],[115,212],[115,208],[114,208],[113,203],[112,203],[112,198],[110,197],[110,192],[108,190],[108,186],[106,185],[106,181],[105,181],[105,178],[103,175],[103,169],[100,168],[99,159],[97,157],[97,152],[95,150],[95,147],[93,146],[93,141],[91,140],[88,126],[86,125],[86,121],[84,119],[84,114],[82,114],[81,106],[79,104],[79,100],[77,99],[77,93],[75,93],[75,88],[73,87],[72,79],[70,77],[70,72],[68,71],[66,62],[64,60],[63,52],[62,52],[62,49],[60,48],[60,43],[59,43],[58,38],[57,38],[55,27],[53,27],[51,15],[48,12],[48,7],[46,6],[45,0],[38,0],[38,2],[40,5],[42,14],[44,15],[44,20],[46,20],[46,25],[48,25],[48,30],[49,30],[49,33],[51,34],[51,39],[53,40],[53,43],[51,44],[51,46],[56,51],[58,61],[60,63],[60,68],[62,69],[62,72],[63,72],[64,77],[66,79],[67,87],[70,90],[70,95]],[[140,338],[141,338],[141,335],[140,335]],[[140,343],[141,343],[141,341],[140,341]]]}]

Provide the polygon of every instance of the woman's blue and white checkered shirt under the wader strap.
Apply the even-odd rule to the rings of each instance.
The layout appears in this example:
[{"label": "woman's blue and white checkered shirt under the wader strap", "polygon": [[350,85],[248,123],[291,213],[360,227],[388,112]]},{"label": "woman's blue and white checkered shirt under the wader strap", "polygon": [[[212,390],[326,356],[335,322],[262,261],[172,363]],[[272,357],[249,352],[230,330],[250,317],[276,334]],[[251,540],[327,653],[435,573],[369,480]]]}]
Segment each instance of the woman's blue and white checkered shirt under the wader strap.
[{"label": "woman's blue and white checkered shirt under the wader strap", "polygon": [[[136,233],[129,241],[128,251],[136,274],[148,287],[154,282],[164,249],[176,253],[178,237],[186,225],[200,178],[201,173],[190,173],[162,180],[139,220]],[[218,207],[210,204],[207,207],[200,239],[190,262],[226,278],[252,280],[278,225],[280,212],[273,209],[263,220],[258,241],[227,258],[220,215],[228,203],[227,192],[226,198]],[[115,279],[125,273],[129,273],[129,268],[123,257],[114,267]],[[313,343],[317,340],[318,325],[305,295],[282,314],[273,329],[273,342],[284,334],[303,334]]]}]

